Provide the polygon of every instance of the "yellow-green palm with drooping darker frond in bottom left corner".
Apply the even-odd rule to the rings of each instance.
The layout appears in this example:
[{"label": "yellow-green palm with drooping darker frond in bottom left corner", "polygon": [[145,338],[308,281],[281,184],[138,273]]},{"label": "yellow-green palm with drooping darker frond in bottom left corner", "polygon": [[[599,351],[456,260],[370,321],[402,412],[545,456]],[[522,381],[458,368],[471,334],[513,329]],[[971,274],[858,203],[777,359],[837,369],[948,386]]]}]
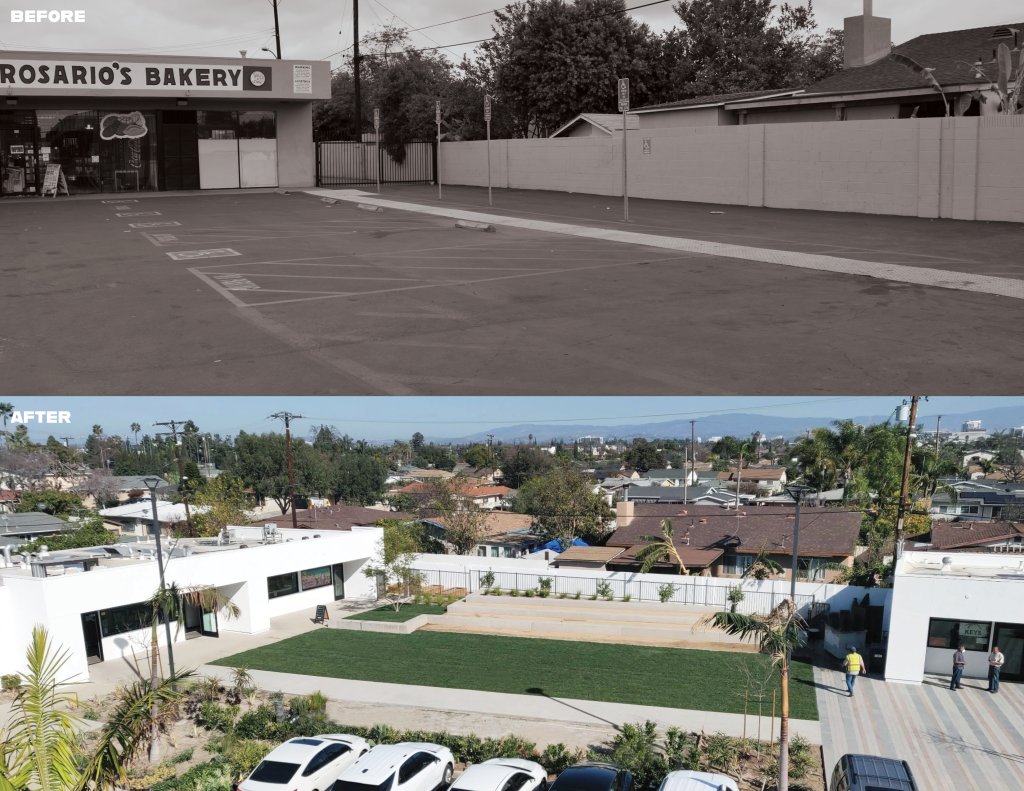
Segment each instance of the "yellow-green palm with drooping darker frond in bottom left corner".
[{"label": "yellow-green palm with drooping darker frond in bottom left corner", "polygon": [[86,754],[80,742],[81,721],[67,710],[78,697],[65,692],[67,681],[58,678],[68,658],[67,651],[51,648],[42,626],[33,629],[26,652],[28,672],[22,674],[25,685],[11,706],[6,731],[0,732],[0,791],[114,788],[145,745],[147,712],[154,704],[158,711],[166,711],[180,701],[185,695],[180,681],[193,675],[179,673],[156,688],[148,681],[127,688],[97,747]]}]

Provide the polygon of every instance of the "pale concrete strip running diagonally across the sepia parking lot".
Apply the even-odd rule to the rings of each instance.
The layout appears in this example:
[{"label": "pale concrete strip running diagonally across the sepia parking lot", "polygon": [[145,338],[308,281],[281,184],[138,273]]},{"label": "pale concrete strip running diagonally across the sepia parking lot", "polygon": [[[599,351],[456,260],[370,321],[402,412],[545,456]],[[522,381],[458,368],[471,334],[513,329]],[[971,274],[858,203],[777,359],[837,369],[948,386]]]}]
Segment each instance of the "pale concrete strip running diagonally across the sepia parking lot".
[{"label": "pale concrete strip running diagonally across the sepia parking lot", "polygon": [[664,250],[711,255],[721,258],[755,261],[757,263],[772,263],[779,266],[794,266],[801,269],[828,272],[836,275],[860,276],[886,280],[893,283],[906,283],[930,288],[950,289],[953,291],[971,291],[979,294],[1010,299],[1024,299],[1024,280],[1010,278],[993,278],[986,275],[976,275],[968,272],[933,269],[927,266],[907,266],[897,263],[865,261],[856,258],[841,258],[818,253],[800,253],[793,250],[774,250],[745,245],[709,242],[702,239],[685,239],[665,237],[655,234],[639,234],[633,231],[618,228],[588,227],[565,222],[550,222],[548,220],[523,219],[506,217],[500,214],[485,214],[476,211],[463,211],[442,206],[423,206],[416,203],[403,203],[373,198],[355,191],[307,190],[309,195],[316,197],[337,198],[349,203],[371,203],[377,206],[398,209],[400,211],[419,212],[455,219],[470,219],[479,222],[490,222],[495,225],[518,227],[527,231],[541,231],[562,236],[581,237],[584,239],[599,239],[607,242],[655,247]]}]

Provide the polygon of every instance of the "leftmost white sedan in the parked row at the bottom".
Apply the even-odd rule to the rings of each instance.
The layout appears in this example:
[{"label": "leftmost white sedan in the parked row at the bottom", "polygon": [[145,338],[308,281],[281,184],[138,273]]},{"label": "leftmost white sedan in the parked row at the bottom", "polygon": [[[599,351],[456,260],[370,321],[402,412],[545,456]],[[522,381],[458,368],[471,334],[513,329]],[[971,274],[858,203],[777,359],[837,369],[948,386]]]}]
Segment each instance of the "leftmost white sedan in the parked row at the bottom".
[{"label": "leftmost white sedan in the parked row at the bottom", "polygon": [[273,748],[236,791],[327,791],[369,750],[366,739],[347,734],[289,739]]}]

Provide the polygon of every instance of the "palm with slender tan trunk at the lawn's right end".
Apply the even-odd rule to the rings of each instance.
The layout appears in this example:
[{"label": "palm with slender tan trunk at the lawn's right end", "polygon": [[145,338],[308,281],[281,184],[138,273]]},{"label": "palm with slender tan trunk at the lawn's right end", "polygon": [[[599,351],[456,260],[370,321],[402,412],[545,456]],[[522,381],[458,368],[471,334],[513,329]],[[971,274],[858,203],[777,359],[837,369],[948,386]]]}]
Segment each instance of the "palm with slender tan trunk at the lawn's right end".
[{"label": "palm with slender tan trunk at the lawn's right end", "polygon": [[786,598],[768,615],[742,615],[721,612],[705,618],[705,626],[721,629],[740,639],[757,642],[762,654],[771,657],[778,668],[782,688],[782,712],[778,736],[778,791],[790,788],[790,662],[794,649],[805,641],[804,620],[793,599]]}]

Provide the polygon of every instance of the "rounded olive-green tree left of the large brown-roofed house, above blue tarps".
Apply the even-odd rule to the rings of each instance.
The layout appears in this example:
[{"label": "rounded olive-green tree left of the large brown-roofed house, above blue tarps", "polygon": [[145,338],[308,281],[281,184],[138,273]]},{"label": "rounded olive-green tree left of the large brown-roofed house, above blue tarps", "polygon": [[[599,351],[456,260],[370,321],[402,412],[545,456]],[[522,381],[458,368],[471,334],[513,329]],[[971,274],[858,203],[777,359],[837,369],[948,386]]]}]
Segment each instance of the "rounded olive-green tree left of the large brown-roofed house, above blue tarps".
[{"label": "rounded olive-green tree left of the large brown-roofed house, above blue tarps", "polygon": [[514,510],[537,517],[541,534],[563,549],[578,538],[599,541],[614,515],[593,484],[568,463],[526,482],[516,494]]}]

